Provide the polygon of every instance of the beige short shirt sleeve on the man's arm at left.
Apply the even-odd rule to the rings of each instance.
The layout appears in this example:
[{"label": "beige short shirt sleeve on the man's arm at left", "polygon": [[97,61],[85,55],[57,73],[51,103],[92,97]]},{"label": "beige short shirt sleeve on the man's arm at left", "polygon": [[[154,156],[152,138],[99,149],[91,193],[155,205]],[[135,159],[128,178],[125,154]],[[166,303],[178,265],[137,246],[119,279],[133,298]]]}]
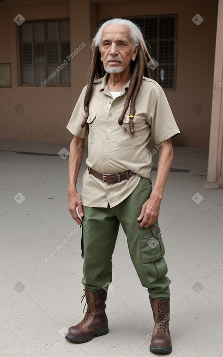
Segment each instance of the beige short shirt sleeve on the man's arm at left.
[{"label": "beige short shirt sleeve on the man's arm at left", "polygon": [[85,139],[88,134],[87,125],[84,128],[81,127],[81,124],[85,118],[84,111],[84,97],[86,93],[86,87],[81,92],[81,95],[76,103],[76,106],[73,109],[72,115],[70,117],[67,129],[75,136]]}]

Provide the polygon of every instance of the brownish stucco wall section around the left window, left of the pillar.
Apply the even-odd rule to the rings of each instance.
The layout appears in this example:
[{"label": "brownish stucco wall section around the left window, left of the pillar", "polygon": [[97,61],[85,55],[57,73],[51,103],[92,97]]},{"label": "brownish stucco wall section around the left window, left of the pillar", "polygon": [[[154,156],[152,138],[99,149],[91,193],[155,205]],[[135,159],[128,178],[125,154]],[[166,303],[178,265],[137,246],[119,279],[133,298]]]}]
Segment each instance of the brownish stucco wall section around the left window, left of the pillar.
[{"label": "brownish stucco wall section around the left window, left of the pillar", "polygon": [[[0,138],[14,140],[68,142],[66,125],[71,112],[70,87],[18,86],[17,14],[26,20],[69,18],[69,2],[64,4],[18,6],[0,9],[0,62],[11,63],[12,88],[0,88]],[[84,38],[84,37],[83,37]],[[85,38],[83,39],[83,41]],[[81,43],[79,34],[72,45]],[[87,56],[87,49],[83,49]],[[78,57],[78,56],[77,56]],[[75,58],[72,60],[72,65]],[[75,83],[73,86],[75,88]],[[82,85],[83,86],[83,85]],[[17,113],[21,104],[25,110]]]}]

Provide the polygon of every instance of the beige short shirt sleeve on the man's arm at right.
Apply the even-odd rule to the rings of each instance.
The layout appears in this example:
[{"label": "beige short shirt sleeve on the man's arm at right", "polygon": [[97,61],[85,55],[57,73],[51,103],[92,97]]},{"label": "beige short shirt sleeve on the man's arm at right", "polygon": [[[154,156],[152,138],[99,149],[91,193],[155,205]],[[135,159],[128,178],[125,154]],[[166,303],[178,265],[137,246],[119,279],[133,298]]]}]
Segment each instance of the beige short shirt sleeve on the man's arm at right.
[{"label": "beige short shirt sleeve on the man's arm at right", "polygon": [[163,89],[160,89],[159,94],[155,96],[148,119],[151,125],[151,134],[156,144],[171,139],[180,133]]}]

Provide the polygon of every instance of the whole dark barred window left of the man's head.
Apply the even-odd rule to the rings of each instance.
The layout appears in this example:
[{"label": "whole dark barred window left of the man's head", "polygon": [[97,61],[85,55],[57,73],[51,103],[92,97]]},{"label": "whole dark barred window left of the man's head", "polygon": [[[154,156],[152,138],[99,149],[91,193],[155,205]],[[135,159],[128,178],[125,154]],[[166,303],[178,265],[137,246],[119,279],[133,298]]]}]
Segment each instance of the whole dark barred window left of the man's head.
[{"label": "whole dark barred window left of the man's head", "polygon": [[70,85],[69,20],[25,21],[19,38],[22,85]]}]

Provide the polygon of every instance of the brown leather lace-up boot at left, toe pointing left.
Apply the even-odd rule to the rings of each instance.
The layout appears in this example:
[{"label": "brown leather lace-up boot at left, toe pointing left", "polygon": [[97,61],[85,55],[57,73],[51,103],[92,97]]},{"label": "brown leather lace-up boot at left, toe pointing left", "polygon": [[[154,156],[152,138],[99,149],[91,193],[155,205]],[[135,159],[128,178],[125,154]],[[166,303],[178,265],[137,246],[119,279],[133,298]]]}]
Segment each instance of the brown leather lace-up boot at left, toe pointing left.
[{"label": "brown leather lace-up boot at left, toe pointing left", "polygon": [[68,333],[65,335],[65,339],[78,343],[85,343],[90,341],[93,336],[102,336],[108,333],[108,319],[105,314],[107,291],[83,290],[85,293],[82,296],[82,301],[86,297],[85,306],[87,304],[85,317],[76,326],[69,327]]}]

